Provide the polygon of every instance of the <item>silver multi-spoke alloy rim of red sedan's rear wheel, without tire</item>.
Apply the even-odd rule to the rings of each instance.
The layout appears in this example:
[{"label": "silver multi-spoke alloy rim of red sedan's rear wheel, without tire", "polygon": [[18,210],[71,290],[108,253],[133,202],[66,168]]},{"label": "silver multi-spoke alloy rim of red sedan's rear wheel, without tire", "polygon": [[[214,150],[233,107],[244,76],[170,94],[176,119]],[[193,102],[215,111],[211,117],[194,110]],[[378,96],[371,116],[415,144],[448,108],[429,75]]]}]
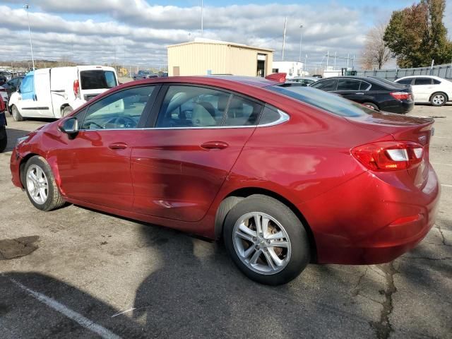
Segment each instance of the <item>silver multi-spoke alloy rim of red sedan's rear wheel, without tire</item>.
[{"label": "silver multi-spoke alloy rim of red sedan's rear wheel, without tire", "polygon": [[242,263],[256,273],[278,273],[290,261],[289,236],[283,225],[266,213],[242,215],[234,225],[232,242]]}]

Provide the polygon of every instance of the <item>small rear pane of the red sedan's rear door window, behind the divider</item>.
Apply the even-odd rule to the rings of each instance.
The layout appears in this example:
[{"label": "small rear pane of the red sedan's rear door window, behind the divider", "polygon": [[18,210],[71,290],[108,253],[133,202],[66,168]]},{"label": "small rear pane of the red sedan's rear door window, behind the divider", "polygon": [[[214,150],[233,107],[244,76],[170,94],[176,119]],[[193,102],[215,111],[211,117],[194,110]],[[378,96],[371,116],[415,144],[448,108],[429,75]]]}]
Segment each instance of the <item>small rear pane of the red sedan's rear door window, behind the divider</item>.
[{"label": "small rear pane of the red sedan's rear door window, behind the divider", "polygon": [[234,95],[227,107],[224,126],[255,125],[261,110],[261,104]]}]

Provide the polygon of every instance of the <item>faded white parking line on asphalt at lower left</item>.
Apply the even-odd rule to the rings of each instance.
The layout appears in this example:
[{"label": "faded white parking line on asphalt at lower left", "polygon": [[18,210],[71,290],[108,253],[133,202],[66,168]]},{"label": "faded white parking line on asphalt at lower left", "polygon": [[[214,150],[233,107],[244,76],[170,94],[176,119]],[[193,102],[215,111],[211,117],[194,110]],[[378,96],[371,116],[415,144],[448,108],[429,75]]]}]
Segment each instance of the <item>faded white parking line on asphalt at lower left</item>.
[{"label": "faded white parking line on asphalt at lower left", "polygon": [[94,333],[97,333],[102,338],[105,339],[121,339],[118,335],[114,334],[113,332],[107,330],[107,328],[102,327],[95,323],[94,321],[91,321],[88,318],[85,318],[81,314],[78,314],[76,311],[73,311],[72,309],[67,308],[64,306],[64,304],[60,304],[57,302],[57,300],[54,300],[50,297],[47,297],[46,295],[42,295],[40,292],[36,292],[34,290],[31,290],[30,288],[26,287],[25,285],[22,285],[17,280],[10,279],[14,284],[16,284],[18,287],[20,287],[22,290],[25,290],[26,292],[30,293],[32,297],[35,297],[43,304],[46,304],[48,307],[52,307],[55,311],[59,311],[59,313],[63,314],[64,316],[67,316],[69,319],[72,319],[73,321],[76,321],[80,326],[83,326],[84,328],[93,331]]}]

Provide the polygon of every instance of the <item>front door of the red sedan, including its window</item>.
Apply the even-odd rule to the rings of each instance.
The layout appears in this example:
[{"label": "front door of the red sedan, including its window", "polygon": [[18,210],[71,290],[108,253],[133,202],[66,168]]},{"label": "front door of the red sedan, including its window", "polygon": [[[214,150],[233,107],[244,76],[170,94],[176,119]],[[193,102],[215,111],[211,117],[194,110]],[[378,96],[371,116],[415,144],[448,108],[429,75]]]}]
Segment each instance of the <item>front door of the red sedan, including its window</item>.
[{"label": "front door of the red sedan, including its window", "polygon": [[122,90],[77,114],[81,130],[51,153],[61,191],[69,198],[130,210],[133,186],[131,150],[152,105],[155,86]]}]

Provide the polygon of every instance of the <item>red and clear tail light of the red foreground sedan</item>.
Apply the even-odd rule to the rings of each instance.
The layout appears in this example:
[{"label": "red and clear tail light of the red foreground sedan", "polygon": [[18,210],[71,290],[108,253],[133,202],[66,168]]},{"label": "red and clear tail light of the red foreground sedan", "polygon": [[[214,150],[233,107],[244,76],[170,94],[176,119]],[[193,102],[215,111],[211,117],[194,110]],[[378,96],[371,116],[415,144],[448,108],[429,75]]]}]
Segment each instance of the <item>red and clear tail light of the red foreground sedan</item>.
[{"label": "red and clear tail light of the red foreground sedan", "polygon": [[411,141],[381,141],[357,146],[352,155],[374,171],[396,171],[419,165],[424,147]]}]

